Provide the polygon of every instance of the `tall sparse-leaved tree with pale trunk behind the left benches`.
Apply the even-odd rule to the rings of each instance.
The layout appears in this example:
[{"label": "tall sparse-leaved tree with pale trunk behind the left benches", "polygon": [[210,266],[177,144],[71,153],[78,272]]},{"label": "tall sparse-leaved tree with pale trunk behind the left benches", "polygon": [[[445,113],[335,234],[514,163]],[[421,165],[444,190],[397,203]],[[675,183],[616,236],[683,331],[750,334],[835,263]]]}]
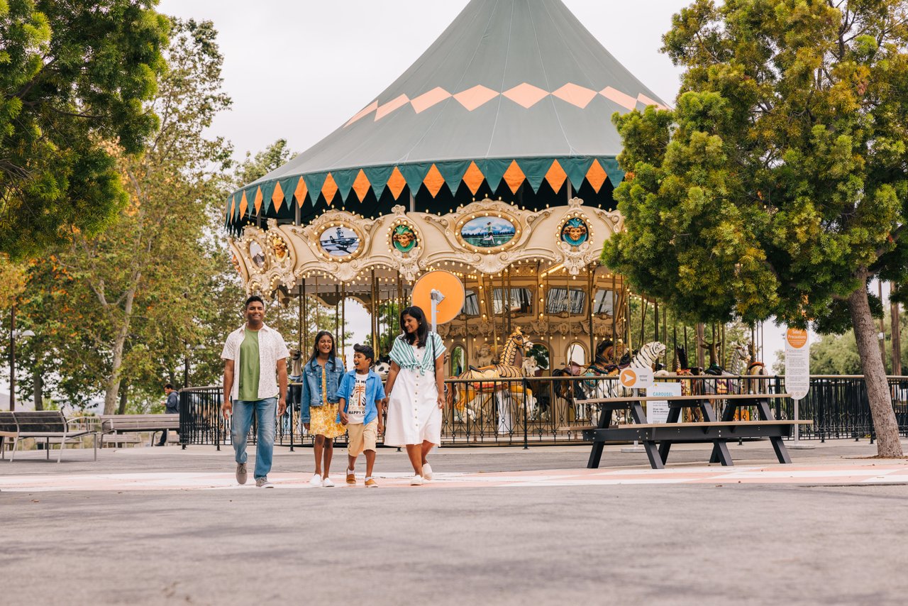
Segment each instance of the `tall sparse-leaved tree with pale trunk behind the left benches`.
[{"label": "tall sparse-leaved tree with pale trunk behind the left benches", "polygon": [[158,129],[140,156],[109,149],[128,204],[104,233],[74,233],[32,268],[33,330],[62,371],[61,391],[75,402],[104,392],[106,414],[125,369],[147,392],[160,391],[163,374],[173,378],[187,348],[205,341],[212,295],[230,286],[217,279],[230,263],[212,227],[230,148],[203,135],[230,104],[215,35],[211,23],[174,22],[168,67],[146,108],[160,115]]}]

